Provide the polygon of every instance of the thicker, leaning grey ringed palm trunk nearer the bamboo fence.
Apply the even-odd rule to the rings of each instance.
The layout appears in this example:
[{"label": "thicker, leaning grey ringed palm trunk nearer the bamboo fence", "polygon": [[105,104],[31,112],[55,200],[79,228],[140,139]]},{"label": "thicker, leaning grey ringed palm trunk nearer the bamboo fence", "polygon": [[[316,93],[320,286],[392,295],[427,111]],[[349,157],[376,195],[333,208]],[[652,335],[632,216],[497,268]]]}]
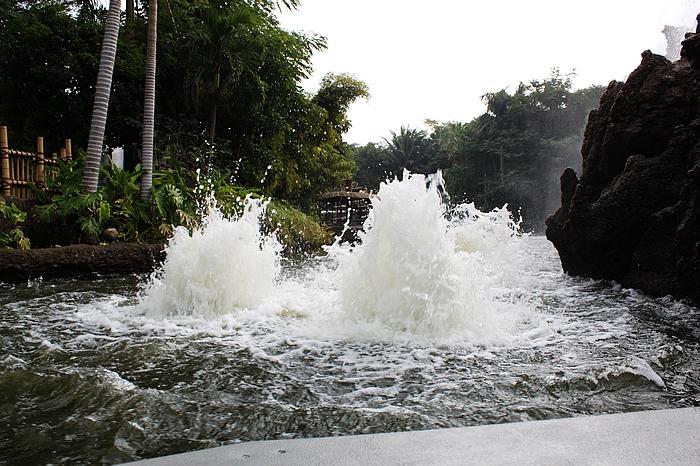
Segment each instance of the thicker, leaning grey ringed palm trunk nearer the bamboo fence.
[{"label": "thicker, leaning grey ringed palm trunk nearer the bamboo fence", "polygon": [[105,36],[102,40],[100,66],[97,71],[95,104],[92,108],[87,158],[85,160],[85,171],[83,172],[83,190],[88,193],[97,191],[97,181],[100,176],[100,162],[102,161],[102,144],[104,142],[105,126],[107,125],[109,93],[112,89],[114,58],[117,55],[120,7],[120,0],[110,0],[109,13],[107,13],[107,23],[105,25]]}]

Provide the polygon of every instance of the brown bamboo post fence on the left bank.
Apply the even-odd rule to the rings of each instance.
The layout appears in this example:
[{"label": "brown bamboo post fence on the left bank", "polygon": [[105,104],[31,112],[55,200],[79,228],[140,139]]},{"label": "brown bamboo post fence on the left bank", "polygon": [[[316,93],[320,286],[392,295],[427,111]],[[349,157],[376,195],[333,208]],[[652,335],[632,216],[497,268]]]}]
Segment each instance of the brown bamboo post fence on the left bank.
[{"label": "brown bamboo post fence on the left bank", "polygon": [[[22,152],[10,149],[7,141],[7,127],[0,126],[0,168],[2,173],[0,194],[17,196],[19,198],[34,197],[31,184],[39,188],[46,186],[47,165],[58,165],[54,153],[52,157],[44,157],[44,138],[36,138],[36,152]],[[63,161],[72,159],[70,139],[66,139],[65,147],[61,148],[60,158]],[[49,176],[51,176],[49,174]]]}]

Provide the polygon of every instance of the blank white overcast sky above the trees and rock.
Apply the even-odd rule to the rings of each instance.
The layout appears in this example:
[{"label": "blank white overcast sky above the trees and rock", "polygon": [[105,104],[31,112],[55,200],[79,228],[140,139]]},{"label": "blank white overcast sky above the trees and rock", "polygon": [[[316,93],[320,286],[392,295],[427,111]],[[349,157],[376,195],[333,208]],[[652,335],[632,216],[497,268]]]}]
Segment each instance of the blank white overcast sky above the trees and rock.
[{"label": "blank white overcast sky above the trees and rock", "polygon": [[326,36],[303,83],[348,72],[372,98],[349,111],[346,142],[425,128],[426,118],[467,122],[480,96],[576,69],[574,87],[624,80],[650,49],[666,53],[665,25],[695,29],[700,0],[302,0],[283,28]]}]

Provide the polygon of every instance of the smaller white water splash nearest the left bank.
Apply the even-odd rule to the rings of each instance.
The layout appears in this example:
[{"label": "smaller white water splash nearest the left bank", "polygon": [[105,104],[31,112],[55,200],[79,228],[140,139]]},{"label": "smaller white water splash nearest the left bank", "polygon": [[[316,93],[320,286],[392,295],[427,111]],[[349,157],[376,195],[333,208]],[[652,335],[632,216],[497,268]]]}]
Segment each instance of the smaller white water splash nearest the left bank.
[{"label": "smaller white water splash nearest the left bank", "polygon": [[260,232],[266,207],[249,197],[238,217],[225,218],[212,206],[191,235],[178,227],[163,270],[146,285],[147,311],[214,317],[260,306],[273,294],[282,249],[274,236]]}]

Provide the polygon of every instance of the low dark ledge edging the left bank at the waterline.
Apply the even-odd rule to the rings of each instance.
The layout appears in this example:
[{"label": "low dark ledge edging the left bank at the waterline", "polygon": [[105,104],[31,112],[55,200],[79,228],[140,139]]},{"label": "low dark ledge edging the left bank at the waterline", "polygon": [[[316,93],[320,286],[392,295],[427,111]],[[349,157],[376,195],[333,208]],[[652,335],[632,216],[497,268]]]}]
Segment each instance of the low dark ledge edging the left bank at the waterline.
[{"label": "low dark ledge edging the left bank at the waterline", "polygon": [[147,273],[163,260],[165,250],[159,244],[82,244],[28,251],[0,249],[0,282]]}]

